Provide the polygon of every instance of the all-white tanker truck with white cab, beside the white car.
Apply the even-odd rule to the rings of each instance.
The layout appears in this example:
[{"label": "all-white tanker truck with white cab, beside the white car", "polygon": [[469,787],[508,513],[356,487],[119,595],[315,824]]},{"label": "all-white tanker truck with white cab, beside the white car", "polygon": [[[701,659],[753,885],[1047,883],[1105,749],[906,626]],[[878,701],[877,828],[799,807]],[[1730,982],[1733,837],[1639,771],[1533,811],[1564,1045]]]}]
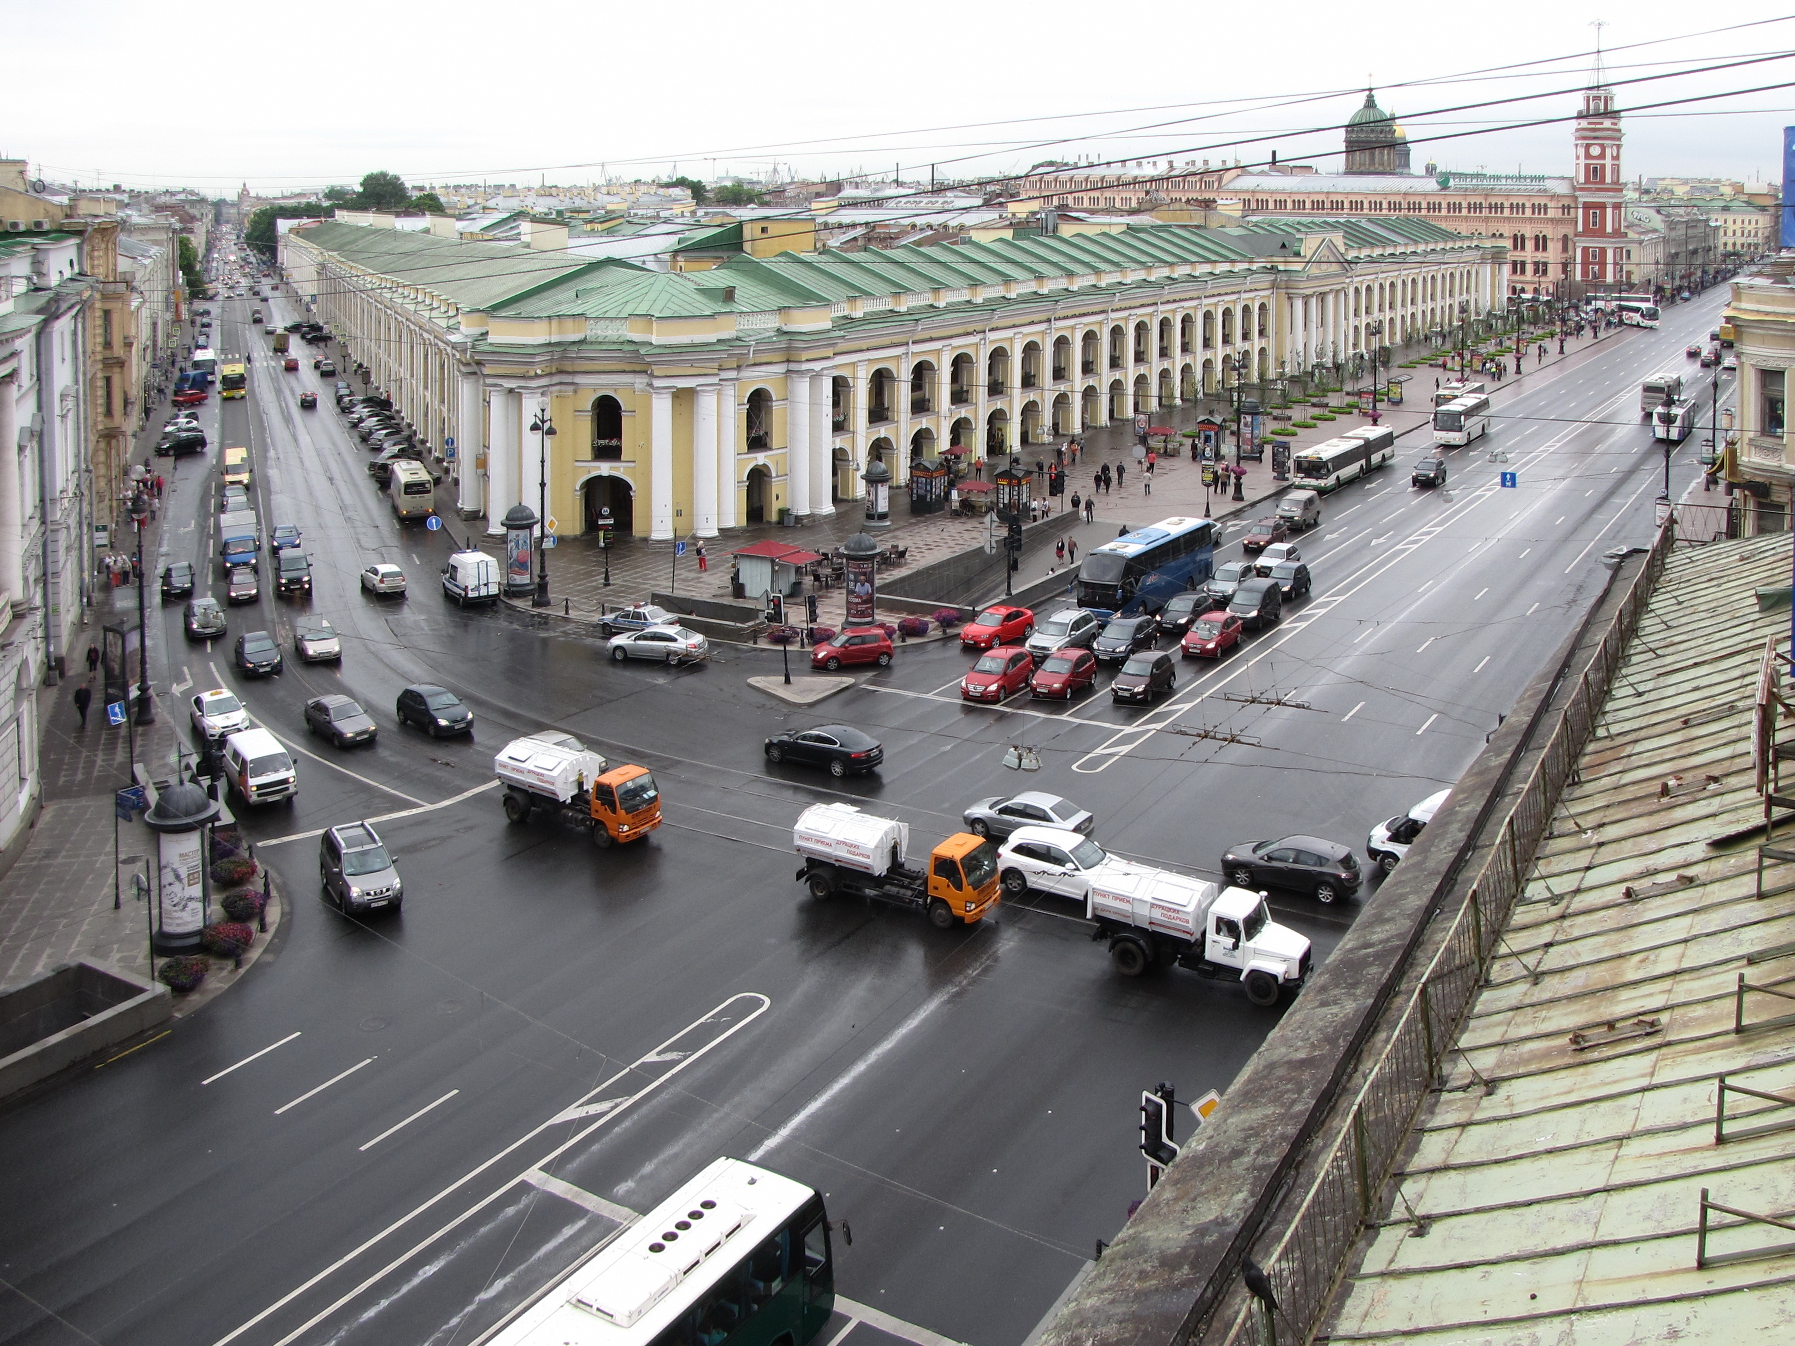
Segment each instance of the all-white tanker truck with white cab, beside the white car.
[{"label": "all-white tanker truck with white cab, beside the white car", "polygon": [[1221,888],[1163,869],[1115,869],[1093,876],[1084,915],[1093,940],[1109,942],[1124,976],[1178,964],[1231,978],[1255,1005],[1274,1005],[1309,978],[1310,944],[1271,919],[1265,894]]}]

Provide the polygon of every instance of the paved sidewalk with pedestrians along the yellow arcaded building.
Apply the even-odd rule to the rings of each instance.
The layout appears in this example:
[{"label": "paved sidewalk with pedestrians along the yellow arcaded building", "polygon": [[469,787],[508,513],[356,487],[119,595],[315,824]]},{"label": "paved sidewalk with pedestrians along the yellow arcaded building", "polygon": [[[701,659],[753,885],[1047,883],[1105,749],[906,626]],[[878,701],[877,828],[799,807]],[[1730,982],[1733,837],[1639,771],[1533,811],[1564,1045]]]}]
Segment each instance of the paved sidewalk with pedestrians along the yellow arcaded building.
[{"label": "paved sidewalk with pedestrians along the yellow arcaded building", "polygon": [[[1614,339],[1614,334],[1610,332],[1603,339],[1610,341]],[[1565,355],[1558,355],[1556,343],[1549,343],[1549,354],[1544,368],[1551,368],[1580,354],[1592,343],[1592,337],[1569,339],[1565,343]],[[1488,345],[1501,345],[1501,341],[1492,339]],[[1414,350],[1407,355],[1407,359],[1422,359],[1425,355],[1425,350]],[[1404,389],[1407,398],[1404,406],[1398,407],[1380,404],[1380,425],[1389,425],[1398,436],[1405,436],[1431,424],[1434,379],[1438,377],[1441,382],[1449,379],[1438,364],[1438,355],[1434,359],[1434,364],[1423,364],[1414,370],[1393,370],[1398,375],[1409,377]],[[1513,364],[1513,357],[1510,355],[1508,359],[1510,364]],[[1493,391],[1497,388],[1506,388],[1515,379],[1524,379],[1540,368],[1542,366],[1537,359],[1529,355],[1528,368],[1524,371],[1510,373],[1510,377],[1501,384],[1493,379],[1484,379],[1484,382],[1488,382]],[[1332,400],[1341,404],[1348,398],[1350,393],[1341,393]],[[1230,427],[1231,438],[1231,416],[1222,415],[1222,411],[1224,404],[1221,402],[1179,406],[1163,413],[1154,413],[1152,424],[1185,431],[1195,425],[1201,415],[1213,413]],[[1305,415],[1312,415],[1314,411],[1319,411],[1319,407],[1305,407],[1298,404],[1291,407],[1291,416],[1292,420],[1303,420]],[[1291,445],[1292,450],[1301,450],[1321,443],[1323,440],[1337,438],[1339,434],[1366,424],[1370,424],[1368,418],[1357,413],[1339,413],[1334,420],[1318,422],[1314,429],[1303,429],[1294,436],[1278,438]],[[1093,546],[1102,546],[1104,542],[1115,538],[1118,531],[1127,531],[1127,528],[1149,524],[1172,515],[1203,515],[1204,511],[1217,519],[1249,515],[1255,506],[1282,495],[1289,488],[1289,483],[1273,479],[1269,452],[1265,454],[1264,463],[1242,463],[1246,468],[1246,477],[1242,479],[1242,501],[1235,501],[1231,492],[1217,492],[1212,495],[1210,490],[1203,486],[1201,463],[1194,463],[1188,456],[1165,458],[1161,454],[1158,468],[1152,474],[1152,488],[1149,494],[1143,483],[1145,472],[1134,459],[1136,445],[1134,427],[1131,422],[1090,429],[1082,434],[1082,440],[1084,452],[1079,458],[1079,463],[1075,467],[1068,463],[1066,468],[1066,495],[1050,497],[1050,504],[1061,511],[1059,517],[1066,519],[1066,528],[1059,529],[1050,522],[1030,526],[1029,540],[1023,546],[1021,567],[1012,576],[1014,589],[1025,589],[1027,585],[1041,581],[1063,569],[1054,551],[1055,542],[1061,537],[1075,540],[1077,551],[1082,556]],[[1186,441],[1174,440],[1174,443],[1185,445]],[[1029,445],[1018,452],[1018,461],[1025,467],[1034,467],[1036,461],[1052,463],[1054,447]],[[1072,492],[1077,492],[1081,499],[1090,495],[1091,474],[1100,472],[1106,463],[1109,465],[1111,477],[1115,477],[1118,467],[1125,468],[1122,477],[1124,485],[1120,488],[1113,488],[1111,492],[1099,492],[1095,522],[1073,522],[1070,517]],[[989,470],[991,465],[987,463],[987,474]],[[1036,495],[1045,494],[1045,490],[1046,481],[1043,476],[1036,481]],[[892,524],[890,528],[872,533],[881,546],[910,549],[908,560],[901,569],[881,571],[887,578],[910,574],[917,567],[984,546],[984,519],[953,519],[944,513],[912,517],[908,510],[908,495],[903,490],[894,490],[890,515]],[[451,524],[451,528],[454,528],[454,524]],[[652,592],[675,592],[691,598],[727,601],[732,551],[765,538],[774,538],[808,551],[827,553],[840,546],[847,537],[860,531],[865,531],[865,504],[862,501],[840,501],[836,503],[833,515],[815,515],[795,528],[750,524],[747,528],[732,529],[722,537],[707,538],[705,553],[709,569],[705,571],[698,571],[693,540],[687,540],[686,555],[675,562],[671,542],[648,542],[644,538],[623,537],[616,538],[610,547],[609,585],[605,585],[603,578],[605,555],[598,546],[598,538],[562,538],[558,546],[551,547],[547,553],[553,612],[556,616],[596,621],[600,612],[605,608],[650,601]],[[503,542],[481,538],[479,546],[503,556]],[[998,598],[1002,592],[1003,571],[998,560],[993,558],[987,592],[969,596],[969,601],[968,596],[960,596],[960,601],[966,605],[976,605],[980,601]],[[826,625],[838,623],[840,608],[844,605],[840,592],[826,590],[819,598],[819,621]],[[942,596],[942,601],[950,601],[946,594]]]}]

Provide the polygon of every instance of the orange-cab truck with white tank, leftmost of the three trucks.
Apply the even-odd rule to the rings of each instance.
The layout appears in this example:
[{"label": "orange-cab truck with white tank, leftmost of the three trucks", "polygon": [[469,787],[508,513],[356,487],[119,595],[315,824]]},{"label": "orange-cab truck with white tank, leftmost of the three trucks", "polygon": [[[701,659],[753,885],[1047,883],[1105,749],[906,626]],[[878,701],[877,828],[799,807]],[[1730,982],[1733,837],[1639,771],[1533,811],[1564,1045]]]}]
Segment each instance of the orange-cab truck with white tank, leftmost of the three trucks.
[{"label": "orange-cab truck with white tank, leftmost of the three trucks", "polygon": [[661,788],[646,766],[610,766],[573,734],[512,739],[492,759],[504,782],[504,817],[528,822],[553,813],[567,827],[591,831],[594,845],[639,842],[661,826]]}]

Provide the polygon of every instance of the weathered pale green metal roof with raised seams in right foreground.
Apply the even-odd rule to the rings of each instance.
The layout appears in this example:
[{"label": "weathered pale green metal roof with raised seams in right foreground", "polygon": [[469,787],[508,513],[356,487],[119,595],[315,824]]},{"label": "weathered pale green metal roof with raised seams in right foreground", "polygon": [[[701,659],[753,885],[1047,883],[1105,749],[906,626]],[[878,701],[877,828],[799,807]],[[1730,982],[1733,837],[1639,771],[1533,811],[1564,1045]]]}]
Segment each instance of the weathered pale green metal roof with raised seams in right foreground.
[{"label": "weathered pale green metal roof with raised seams in right foreground", "polygon": [[1790,616],[1754,590],[1788,581],[1786,535],[1669,560],[1318,1341],[1795,1341],[1795,1231],[1709,1211],[1696,1265],[1703,1190],[1795,1219],[1795,1104],[1732,1093],[1795,1100],[1795,1005],[1752,991],[1734,1025],[1741,982],[1795,992],[1795,867],[1759,897],[1763,838],[1716,845],[1763,820],[1754,693]]}]

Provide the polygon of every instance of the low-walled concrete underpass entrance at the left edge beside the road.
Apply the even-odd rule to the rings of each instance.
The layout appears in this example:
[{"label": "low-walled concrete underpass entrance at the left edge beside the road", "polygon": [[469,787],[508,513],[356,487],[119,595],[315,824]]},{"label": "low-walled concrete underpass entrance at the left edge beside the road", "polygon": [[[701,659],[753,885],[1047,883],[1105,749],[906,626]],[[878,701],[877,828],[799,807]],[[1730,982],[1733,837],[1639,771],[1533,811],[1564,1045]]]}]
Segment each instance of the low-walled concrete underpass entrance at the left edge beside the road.
[{"label": "low-walled concrete underpass entrance at the left edge beside the road", "polygon": [[0,991],[0,1098],[172,1014],[167,987],[86,958]]}]

